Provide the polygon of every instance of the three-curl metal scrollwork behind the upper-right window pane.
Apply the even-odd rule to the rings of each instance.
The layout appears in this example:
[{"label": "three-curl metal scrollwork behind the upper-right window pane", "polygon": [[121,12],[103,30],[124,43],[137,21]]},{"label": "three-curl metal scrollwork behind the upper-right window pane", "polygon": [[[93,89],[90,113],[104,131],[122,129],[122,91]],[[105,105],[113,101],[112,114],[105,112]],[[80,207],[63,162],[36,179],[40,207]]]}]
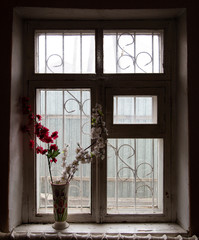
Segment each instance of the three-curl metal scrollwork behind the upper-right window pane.
[{"label": "three-curl metal scrollwork behind the upper-right window pane", "polygon": [[[130,43],[126,43],[124,46],[121,45],[121,40],[124,36],[130,36],[130,38],[132,39]],[[126,70],[128,68],[131,67],[131,64],[126,65],[128,63],[127,58],[130,59],[130,61],[132,62],[133,66],[137,66],[142,72],[147,73],[144,70],[144,67],[148,66],[149,64],[151,64],[153,62],[153,57],[151,56],[150,53],[148,52],[139,52],[137,55],[132,55],[131,53],[128,52],[127,48],[129,46],[133,47],[133,45],[135,45],[135,37],[131,34],[131,33],[122,33],[118,36],[117,38],[117,45],[118,47],[121,49],[121,55],[118,57],[117,59],[117,66],[121,69],[121,70]],[[132,48],[131,48],[132,49]],[[124,60],[125,59],[125,60]],[[143,66],[140,64],[141,59],[144,59],[145,63],[143,64]],[[125,62],[125,66],[122,66],[122,60],[124,60],[123,62]]]}]

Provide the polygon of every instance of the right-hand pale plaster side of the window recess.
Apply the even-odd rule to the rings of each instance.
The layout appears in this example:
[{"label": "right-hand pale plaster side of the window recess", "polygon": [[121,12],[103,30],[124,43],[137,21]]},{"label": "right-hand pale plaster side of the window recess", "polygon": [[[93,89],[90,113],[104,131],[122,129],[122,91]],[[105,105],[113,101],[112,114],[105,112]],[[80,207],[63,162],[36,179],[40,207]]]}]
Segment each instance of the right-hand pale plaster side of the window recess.
[{"label": "right-hand pale plaster side of the window recess", "polygon": [[[177,84],[176,84],[176,208],[177,221],[189,230],[189,146],[187,91],[187,31],[186,13],[177,21]],[[177,147],[177,148],[176,148]]]}]

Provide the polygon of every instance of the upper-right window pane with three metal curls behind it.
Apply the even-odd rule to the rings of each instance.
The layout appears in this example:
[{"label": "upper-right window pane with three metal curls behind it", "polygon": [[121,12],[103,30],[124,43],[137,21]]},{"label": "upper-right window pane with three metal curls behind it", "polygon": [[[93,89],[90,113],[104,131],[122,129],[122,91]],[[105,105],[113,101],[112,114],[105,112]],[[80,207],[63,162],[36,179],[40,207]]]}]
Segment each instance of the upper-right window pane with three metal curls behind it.
[{"label": "upper-right window pane with three metal curls behind it", "polygon": [[163,31],[104,31],[104,73],[162,73]]}]

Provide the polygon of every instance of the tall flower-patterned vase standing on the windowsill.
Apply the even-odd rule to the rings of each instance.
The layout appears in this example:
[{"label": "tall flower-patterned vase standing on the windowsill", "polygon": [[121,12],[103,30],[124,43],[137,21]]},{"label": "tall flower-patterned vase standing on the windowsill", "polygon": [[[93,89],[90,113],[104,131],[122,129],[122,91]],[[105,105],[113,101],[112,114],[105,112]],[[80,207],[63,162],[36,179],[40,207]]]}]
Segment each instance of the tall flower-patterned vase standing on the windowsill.
[{"label": "tall flower-patterned vase standing on the windowsill", "polygon": [[68,188],[69,183],[51,183],[53,193],[53,228],[63,230],[69,226],[66,222],[68,217]]}]

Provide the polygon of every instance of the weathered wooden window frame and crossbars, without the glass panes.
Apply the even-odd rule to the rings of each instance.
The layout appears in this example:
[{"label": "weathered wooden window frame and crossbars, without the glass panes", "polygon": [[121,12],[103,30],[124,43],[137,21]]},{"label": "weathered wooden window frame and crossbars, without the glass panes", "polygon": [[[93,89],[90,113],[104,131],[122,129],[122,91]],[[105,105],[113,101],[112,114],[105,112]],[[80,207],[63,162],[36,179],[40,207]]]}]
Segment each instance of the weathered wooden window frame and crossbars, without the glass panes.
[{"label": "weathered wooden window frame and crossbars, without the glass panes", "polygon": [[[95,102],[104,106],[109,138],[163,138],[164,139],[164,189],[163,214],[108,215],[106,214],[106,161],[92,164],[91,214],[71,214],[72,222],[169,222],[172,221],[171,144],[172,144],[172,94],[174,85],[174,60],[172,21],[27,21],[25,31],[25,83],[31,104],[36,109],[36,90],[39,88],[90,88],[92,106]],[[35,30],[95,29],[96,74],[35,74],[34,32]],[[160,29],[164,30],[164,73],[159,74],[103,74],[103,29]],[[122,79],[122,81],[121,81]],[[116,87],[117,86],[117,87]],[[130,86],[130,88],[125,88]],[[123,125],[112,124],[112,97],[114,94],[150,94],[158,96],[158,124]],[[133,133],[133,134],[132,134]],[[23,219],[29,222],[53,221],[52,214],[36,213],[35,153],[28,150],[24,142],[25,194]],[[26,159],[29,159],[28,161]],[[33,171],[34,170],[34,171]],[[101,194],[103,192],[103,194]],[[28,203],[28,204],[27,204]]]}]

